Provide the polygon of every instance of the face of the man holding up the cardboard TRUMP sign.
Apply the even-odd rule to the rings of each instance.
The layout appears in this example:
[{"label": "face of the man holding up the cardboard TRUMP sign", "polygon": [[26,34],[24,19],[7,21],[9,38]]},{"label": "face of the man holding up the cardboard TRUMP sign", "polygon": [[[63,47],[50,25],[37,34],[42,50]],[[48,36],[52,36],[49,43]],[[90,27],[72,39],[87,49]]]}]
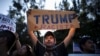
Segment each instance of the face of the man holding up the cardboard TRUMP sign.
[{"label": "face of the man holding up the cardboard TRUMP sign", "polygon": [[52,47],[56,44],[56,40],[52,35],[46,36],[44,38],[44,45],[46,47]]}]

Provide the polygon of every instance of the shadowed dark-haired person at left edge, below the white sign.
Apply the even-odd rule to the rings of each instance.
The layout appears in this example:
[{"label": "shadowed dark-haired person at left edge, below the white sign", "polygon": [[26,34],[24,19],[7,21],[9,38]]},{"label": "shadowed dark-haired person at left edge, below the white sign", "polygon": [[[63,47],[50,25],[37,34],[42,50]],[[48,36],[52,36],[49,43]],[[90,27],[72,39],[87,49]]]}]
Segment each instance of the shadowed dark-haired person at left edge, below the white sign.
[{"label": "shadowed dark-haired person at left edge, below the white sign", "polygon": [[0,31],[0,56],[8,56],[10,54],[15,39],[15,35],[11,31]]}]

